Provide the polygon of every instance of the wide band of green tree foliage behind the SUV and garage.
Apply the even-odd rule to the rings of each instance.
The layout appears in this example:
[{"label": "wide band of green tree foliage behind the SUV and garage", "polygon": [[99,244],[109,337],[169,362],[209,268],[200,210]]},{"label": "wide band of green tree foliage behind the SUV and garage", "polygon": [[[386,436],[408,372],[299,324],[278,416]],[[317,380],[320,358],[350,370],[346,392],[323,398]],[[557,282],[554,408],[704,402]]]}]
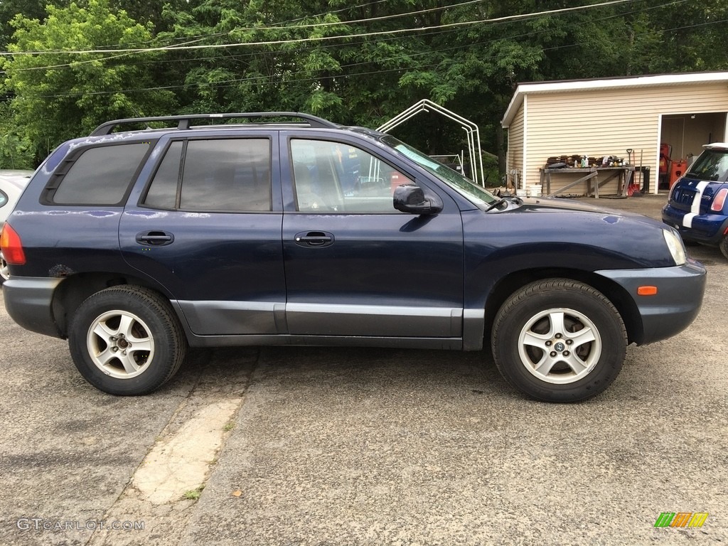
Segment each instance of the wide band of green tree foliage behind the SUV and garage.
[{"label": "wide band of green tree foliage behind the SUV and garage", "polygon": [[[40,151],[119,116],[292,110],[377,127],[429,98],[502,155],[518,82],[728,68],[724,0],[58,0],[42,16],[34,2],[8,48],[58,53],[6,56],[5,84]],[[121,46],[158,49],[68,53]],[[396,131],[433,154],[466,146],[433,116]]]}]

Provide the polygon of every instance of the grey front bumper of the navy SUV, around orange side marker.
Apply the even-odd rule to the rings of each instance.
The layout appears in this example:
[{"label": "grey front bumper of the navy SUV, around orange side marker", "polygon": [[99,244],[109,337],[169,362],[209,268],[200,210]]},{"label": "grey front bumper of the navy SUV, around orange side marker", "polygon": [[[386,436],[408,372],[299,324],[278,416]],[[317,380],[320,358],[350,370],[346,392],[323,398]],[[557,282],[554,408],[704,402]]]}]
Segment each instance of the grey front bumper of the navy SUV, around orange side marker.
[{"label": "grey front bumper of the navy SUV, around orange side marker", "polygon": [[[689,260],[683,266],[652,269],[605,269],[596,272],[630,295],[641,318],[642,331],[633,333],[638,345],[667,339],[687,328],[700,311],[705,293],[705,267]],[[639,296],[640,286],[655,286],[654,296]]]}]

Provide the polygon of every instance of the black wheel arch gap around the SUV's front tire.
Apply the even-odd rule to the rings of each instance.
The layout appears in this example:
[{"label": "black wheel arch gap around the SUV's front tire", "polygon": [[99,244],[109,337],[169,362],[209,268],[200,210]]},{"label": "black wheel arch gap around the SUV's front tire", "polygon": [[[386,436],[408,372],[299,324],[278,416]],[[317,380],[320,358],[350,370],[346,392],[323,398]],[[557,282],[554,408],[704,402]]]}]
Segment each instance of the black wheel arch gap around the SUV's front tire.
[{"label": "black wheel arch gap around the SUV's front tire", "polygon": [[516,290],[530,282],[555,278],[582,282],[604,294],[612,302],[612,305],[617,308],[617,312],[622,317],[622,322],[625,324],[627,331],[628,344],[633,342],[641,343],[644,338],[644,328],[639,318],[640,314],[637,306],[629,293],[617,282],[606,277],[593,272],[568,268],[523,269],[511,272],[499,279],[494,284],[486,300],[484,324],[486,339],[491,337],[493,323],[499,309]]}]

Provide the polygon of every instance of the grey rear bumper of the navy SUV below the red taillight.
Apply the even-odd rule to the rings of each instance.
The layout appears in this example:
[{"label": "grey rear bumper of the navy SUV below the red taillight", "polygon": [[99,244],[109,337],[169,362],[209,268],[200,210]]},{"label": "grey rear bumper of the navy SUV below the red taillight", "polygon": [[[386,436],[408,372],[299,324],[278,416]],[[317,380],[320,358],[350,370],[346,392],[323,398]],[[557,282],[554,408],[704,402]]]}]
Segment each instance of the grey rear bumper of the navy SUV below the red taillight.
[{"label": "grey rear bumper of the navy SUV below the red taillight", "polygon": [[7,314],[26,330],[62,337],[52,310],[53,294],[61,282],[50,277],[10,277],[2,286]]}]

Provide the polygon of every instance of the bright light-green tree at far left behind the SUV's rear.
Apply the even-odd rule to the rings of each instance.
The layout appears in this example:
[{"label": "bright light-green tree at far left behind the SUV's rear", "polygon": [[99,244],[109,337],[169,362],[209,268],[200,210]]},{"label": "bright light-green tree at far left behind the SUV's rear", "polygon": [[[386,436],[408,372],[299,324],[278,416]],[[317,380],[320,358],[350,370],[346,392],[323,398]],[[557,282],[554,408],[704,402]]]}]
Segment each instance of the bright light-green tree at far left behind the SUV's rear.
[{"label": "bright light-green tree at far left behind the SUV's rear", "polygon": [[150,43],[149,28],[124,11],[112,11],[108,0],[48,6],[43,23],[17,15],[12,25],[17,31],[12,55],[3,62],[4,86],[12,97],[13,122],[34,143],[37,160],[107,119],[174,107],[170,92],[153,89],[146,61],[157,53],[71,53]]}]

